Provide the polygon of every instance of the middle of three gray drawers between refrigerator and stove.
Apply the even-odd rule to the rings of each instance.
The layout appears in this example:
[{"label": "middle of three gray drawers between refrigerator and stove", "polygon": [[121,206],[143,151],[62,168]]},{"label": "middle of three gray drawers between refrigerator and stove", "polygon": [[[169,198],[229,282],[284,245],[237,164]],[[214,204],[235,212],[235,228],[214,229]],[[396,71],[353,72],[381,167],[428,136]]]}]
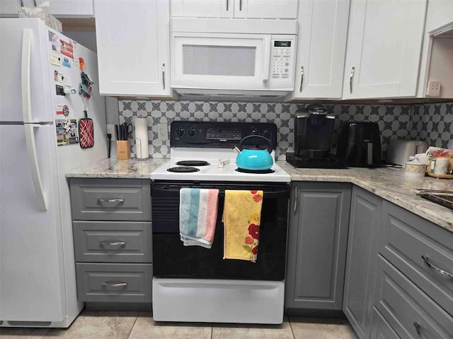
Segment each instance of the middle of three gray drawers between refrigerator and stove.
[{"label": "middle of three gray drawers between refrigerator and stove", "polygon": [[151,222],[74,221],[76,261],[151,263]]}]

